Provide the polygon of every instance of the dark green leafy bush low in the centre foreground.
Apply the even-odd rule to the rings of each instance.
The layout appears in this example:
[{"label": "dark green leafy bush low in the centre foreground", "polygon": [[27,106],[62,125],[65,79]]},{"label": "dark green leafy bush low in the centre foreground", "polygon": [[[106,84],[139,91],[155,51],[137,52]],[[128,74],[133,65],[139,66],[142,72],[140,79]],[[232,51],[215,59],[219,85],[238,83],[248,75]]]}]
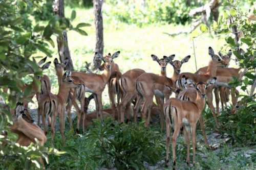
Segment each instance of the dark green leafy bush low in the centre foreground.
[{"label": "dark green leafy bush low in the centre foreground", "polygon": [[118,124],[112,118],[95,120],[87,134],[95,148],[93,159],[107,167],[141,169],[143,161],[155,164],[161,159],[164,143],[159,132],[143,124]]}]

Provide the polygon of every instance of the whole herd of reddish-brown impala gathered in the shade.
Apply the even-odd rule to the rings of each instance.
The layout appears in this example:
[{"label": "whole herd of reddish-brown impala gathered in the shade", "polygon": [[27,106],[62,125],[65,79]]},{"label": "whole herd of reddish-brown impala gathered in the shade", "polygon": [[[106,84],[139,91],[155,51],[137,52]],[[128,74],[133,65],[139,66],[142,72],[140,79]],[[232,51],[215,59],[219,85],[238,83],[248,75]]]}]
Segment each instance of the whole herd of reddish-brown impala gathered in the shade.
[{"label": "whole herd of reddish-brown impala gathered in the shade", "polygon": [[[16,110],[12,113],[15,117],[12,131],[18,134],[17,142],[20,145],[29,145],[35,142],[35,138],[41,145],[44,145],[47,138],[48,125],[51,127],[52,144],[55,136],[56,116],[59,117],[59,129],[63,144],[65,144],[65,118],[66,111],[70,127],[72,128],[71,108],[75,107],[77,113],[77,127],[82,130],[92,122],[92,119],[105,116],[113,116],[120,123],[124,123],[133,116],[134,122],[137,121],[139,114],[145,120],[145,126],[148,127],[151,122],[151,113],[159,114],[161,129],[164,129],[164,120],[166,126],[166,165],[169,165],[169,142],[170,128],[173,128],[172,147],[173,147],[173,165],[176,164],[176,139],[183,130],[185,142],[187,144],[187,158],[189,163],[189,145],[190,133],[193,143],[193,163],[195,163],[196,154],[196,124],[199,120],[200,127],[203,132],[206,147],[210,148],[207,141],[204,122],[201,112],[205,107],[205,98],[212,112],[212,115],[218,128],[219,122],[217,115],[219,114],[219,101],[221,107],[227,106],[229,94],[232,99],[232,113],[238,107],[238,90],[230,89],[228,82],[232,77],[241,77],[241,68],[228,68],[232,52],[228,51],[226,55],[220,52],[215,54],[214,50],[209,47],[208,54],[210,61],[208,66],[200,68],[196,73],[181,72],[183,64],[189,61],[190,56],[184,57],[181,61],[174,60],[175,55],[163,56],[159,59],[156,55],[151,55],[160,68],[160,74],[153,74],[142,69],[135,68],[122,74],[119,67],[114,63],[114,59],[119,56],[120,52],[113,55],[110,53],[103,57],[99,53],[95,53],[94,67],[102,70],[101,75],[88,72],[76,72],[64,68],[67,62],[59,63],[58,59],[54,59],[56,75],[58,77],[59,90],[57,94],[51,93],[51,85],[49,77],[44,75],[38,77],[41,82],[40,91],[36,88],[36,82],[32,82],[33,94],[29,98],[33,98],[36,94],[38,102],[38,125],[42,122],[44,131],[37,126],[31,118],[27,107],[28,103],[18,103]],[[38,62],[38,66],[43,70],[47,69],[51,62],[46,62],[47,58]],[[68,61],[68,60],[67,60]],[[103,64],[101,65],[101,62]],[[45,64],[44,64],[45,63]],[[174,68],[172,78],[166,77],[166,66],[170,64]],[[44,64],[44,65],[42,65]],[[42,66],[41,66],[42,65]],[[111,108],[102,109],[102,92],[108,84],[109,98]],[[25,91],[26,86],[22,87]],[[216,110],[212,102],[212,91],[215,92]],[[89,98],[85,97],[85,92],[91,93]],[[172,93],[176,98],[170,98]],[[117,100],[116,100],[117,96]],[[155,96],[157,105],[153,102]],[[96,111],[87,114],[90,101],[94,99]],[[77,104],[80,103],[80,107]],[[117,101],[117,103],[116,103]],[[132,104],[134,107],[132,107]],[[82,119],[82,120],[81,120]],[[47,125],[48,122],[48,125]]]}]

